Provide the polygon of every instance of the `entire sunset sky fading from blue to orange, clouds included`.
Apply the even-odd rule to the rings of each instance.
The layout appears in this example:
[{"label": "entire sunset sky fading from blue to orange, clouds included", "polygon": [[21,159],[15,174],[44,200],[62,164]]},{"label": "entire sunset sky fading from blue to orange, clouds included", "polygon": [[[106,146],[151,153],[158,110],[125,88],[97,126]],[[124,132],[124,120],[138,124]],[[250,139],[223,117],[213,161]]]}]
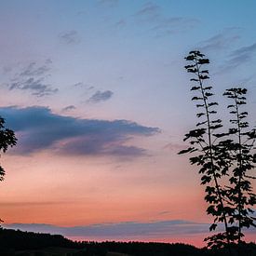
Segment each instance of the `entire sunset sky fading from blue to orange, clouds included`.
[{"label": "entire sunset sky fading from blue to orange, clouds included", "polygon": [[184,57],[206,54],[218,101],[248,88],[255,126],[255,9],[253,0],[0,1],[0,115],[19,140],[1,157],[4,226],[202,246],[204,188],[177,155],[196,122]]}]

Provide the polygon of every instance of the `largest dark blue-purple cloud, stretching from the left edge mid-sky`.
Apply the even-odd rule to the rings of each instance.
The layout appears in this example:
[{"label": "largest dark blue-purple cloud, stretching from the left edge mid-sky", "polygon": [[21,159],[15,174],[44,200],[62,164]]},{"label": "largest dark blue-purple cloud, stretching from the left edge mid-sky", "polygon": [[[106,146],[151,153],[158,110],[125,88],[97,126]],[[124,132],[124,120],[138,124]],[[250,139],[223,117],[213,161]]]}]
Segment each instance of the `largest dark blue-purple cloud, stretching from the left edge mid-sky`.
[{"label": "largest dark blue-purple cloud, stretching from the left edge mid-sky", "polygon": [[44,107],[0,108],[7,126],[19,138],[13,154],[29,155],[50,149],[57,154],[146,155],[142,148],[128,144],[134,136],[152,136],[159,128],[144,127],[127,120],[79,119],[51,113]]}]

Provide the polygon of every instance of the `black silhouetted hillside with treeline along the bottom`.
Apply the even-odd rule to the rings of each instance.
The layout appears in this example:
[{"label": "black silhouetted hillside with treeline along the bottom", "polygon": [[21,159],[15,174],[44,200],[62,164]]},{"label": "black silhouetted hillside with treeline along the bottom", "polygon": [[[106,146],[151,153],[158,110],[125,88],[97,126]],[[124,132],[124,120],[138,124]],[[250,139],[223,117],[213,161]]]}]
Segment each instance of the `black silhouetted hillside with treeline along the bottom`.
[{"label": "black silhouetted hillside with treeline along the bottom", "polygon": [[[226,254],[226,249],[218,251],[197,249],[194,246],[180,243],[74,242],[61,235],[0,229],[0,255],[115,255],[111,252],[132,256],[222,256]],[[233,252],[234,256],[256,256],[256,245],[250,243],[240,248],[234,246]]]}]

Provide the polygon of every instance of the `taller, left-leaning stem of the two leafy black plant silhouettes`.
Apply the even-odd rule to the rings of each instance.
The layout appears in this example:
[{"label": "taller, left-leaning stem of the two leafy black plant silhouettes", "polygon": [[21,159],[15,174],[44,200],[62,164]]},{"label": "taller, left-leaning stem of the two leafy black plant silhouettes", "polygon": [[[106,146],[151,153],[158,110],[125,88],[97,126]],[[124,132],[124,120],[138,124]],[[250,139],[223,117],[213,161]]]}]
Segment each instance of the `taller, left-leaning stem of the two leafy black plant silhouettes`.
[{"label": "taller, left-leaning stem of the two leafy black plant silhouettes", "polygon": [[222,143],[216,143],[216,138],[221,137],[222,133],[218,130],[222,128],[222,120],[215,117],[218,102],[212,101],[212,86],[206,85],[209,80],[209,71],[205,64],[209,60],[199,51],[191,51],[185,58],[191,64],[185,66],[188,73],[193,74],[191,90],[196,93],[192,101],[196,101],[198,113],[196,116],[200,119],[196,128],[185,134],[183,141],[189,141],[190,147],[181,151],[179,154],[193,153],[196,155],[190,157],[192,165],[197,165],[198,172],[201,175],[201,184],[205,185],[205,200],[209,203],[207,213],[213,217],[213,223],[209,230],[215,230],[218,223],[223,223],[225,231],[216,236],[209,236],[210,248],[217,246],[222,248],[225,243],[230,244],[232,237],[228,230],[228,213],[231,208],[225,202],[226,188],[222,185],[221,179],[227,175],[230,163],[225,161],[228,152]]}]

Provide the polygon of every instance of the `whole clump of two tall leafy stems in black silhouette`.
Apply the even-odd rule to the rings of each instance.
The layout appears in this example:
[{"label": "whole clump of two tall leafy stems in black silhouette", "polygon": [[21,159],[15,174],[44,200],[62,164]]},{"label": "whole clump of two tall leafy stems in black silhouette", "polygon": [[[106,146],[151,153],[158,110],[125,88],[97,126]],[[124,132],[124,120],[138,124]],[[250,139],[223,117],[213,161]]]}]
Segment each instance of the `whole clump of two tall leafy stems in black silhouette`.
[{"label": "whole clump of two tall leafy stems in black silhouette", "polygon": [[207,213],[213,216],[209,230],[215,230],[220,223],[224,225],[224,232],[209,236],[205,241],[209,248],[220,249],[226,244],[230,248],[231,243],[241,243],[243,227],[254,225],[253,217],[249,217],[253,210],[249,206],[255,205],[256,196],[250,183],[254,177],[249,175],[249,171],[254,168],[255,155],[251,150],[256,132],[255,129],[244,130],[249,128],[248,122],[244,121],[248,113],[240,112],[240,106],[246,103],[244,94],[247,90],[231,88],[224,93],[235,101],[228,108],[236,118],[230,120],[233,127],[222,132],[222,120],[214,118],[218,102],[211,101],[212,86],[206,85],[209,70],[205,65],[209,59],[195,50],[185,60],[190,61],[185,69],[194,74],[190,79],[193,83],[191,90],[196,93],[192,101],[196,101],[199,110],[196,116],[200,121],[195,129],[185,134],[183,141],[188,140],[190,147],[179,154],[197,153],[189,159],[192,165],[200,167],[201,184],[206,185]]}]

